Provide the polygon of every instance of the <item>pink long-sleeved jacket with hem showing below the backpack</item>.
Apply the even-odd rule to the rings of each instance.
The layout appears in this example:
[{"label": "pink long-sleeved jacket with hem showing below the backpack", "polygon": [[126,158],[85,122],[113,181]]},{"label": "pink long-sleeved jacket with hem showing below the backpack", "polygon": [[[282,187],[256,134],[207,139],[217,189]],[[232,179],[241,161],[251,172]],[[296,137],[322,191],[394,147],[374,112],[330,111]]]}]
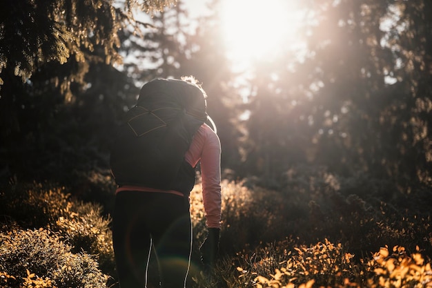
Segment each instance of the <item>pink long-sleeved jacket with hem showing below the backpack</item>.
[{"label": "pink long-sleeved jacket with hem showing below the backpack", "polygon": [[[219,137],[208,125],[202,124],[193,136],[189,150],[186,152],[185,160],[193,167],[201,161],[202,197],[206,212],[206,226],[208,228],[219,228],[221,221],[220,155],[221,145]],[[121,186],[117,189],[116,193],[119,191],[144,191],[183,195],[179,191],[165,191],[141,186]]]}]

